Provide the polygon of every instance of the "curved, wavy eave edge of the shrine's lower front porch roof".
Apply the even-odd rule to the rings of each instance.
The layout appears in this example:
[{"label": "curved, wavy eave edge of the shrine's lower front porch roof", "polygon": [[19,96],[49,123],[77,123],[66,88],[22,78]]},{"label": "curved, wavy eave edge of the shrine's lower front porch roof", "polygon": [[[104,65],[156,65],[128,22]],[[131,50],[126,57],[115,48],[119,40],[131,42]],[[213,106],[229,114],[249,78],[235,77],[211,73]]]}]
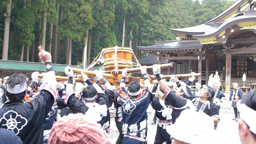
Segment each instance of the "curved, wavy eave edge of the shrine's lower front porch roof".
[{"label": "curved, wavy eave edge of the shrine's lower front porch roof", "polygon": [[227,20],[226,22],[224,22],[213,33],[203,34],[203,35],[194,35],[194,37],[195,37],[195,39],[211,38],[211,37],[214,37],[214,36],[218,36],[222,31],[224,31],[226,28],[229,28],[230,26],[237,25],[241,22],[250,22],[250,21],[255,21],[255,20],[256,20],[255,15],[235,17],[235,18],[232,18],[232,19]]}]

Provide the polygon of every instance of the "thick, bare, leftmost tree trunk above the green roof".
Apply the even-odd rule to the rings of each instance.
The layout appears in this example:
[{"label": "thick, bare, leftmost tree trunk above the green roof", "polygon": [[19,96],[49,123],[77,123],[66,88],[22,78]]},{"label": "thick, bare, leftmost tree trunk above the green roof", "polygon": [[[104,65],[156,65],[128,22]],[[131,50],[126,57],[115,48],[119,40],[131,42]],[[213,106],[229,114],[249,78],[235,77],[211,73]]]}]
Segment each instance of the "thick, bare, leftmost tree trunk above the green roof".
[{"label": "thick, bare, leftmost tree trunk above the green roof", "polygon": [[3,53],[2,53],[2,59],[4,60],[8,59],[11,8],[12,8],[12,0],[9,0],[9,4],[6,7],[6,13],[5,13],[5,31],[4,31],[4,39],[3,39]]}]

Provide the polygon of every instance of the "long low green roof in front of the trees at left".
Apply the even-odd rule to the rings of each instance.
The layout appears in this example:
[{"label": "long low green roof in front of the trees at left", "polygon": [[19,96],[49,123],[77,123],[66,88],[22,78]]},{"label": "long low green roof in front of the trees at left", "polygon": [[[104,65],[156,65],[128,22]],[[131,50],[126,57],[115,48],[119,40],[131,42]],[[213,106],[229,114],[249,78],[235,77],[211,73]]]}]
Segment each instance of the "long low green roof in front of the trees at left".
[{"label": "long low green roof in front of the trees at left", "polygon": [[[64,72],[64,69],[67,65],[63,64],[53,64],[54,71]],[[77,67],[76,65],[70,65],[71,67],[76,67],[83,69],[83,66]],[[44,63],[37,62],[27,62],[27,61],[9,61],[9,60],[0,60],[0,69],[1,70],[23,70],[23,71],[46,71]],[[99,70],[99,67],[92,67],[91,71]]]}]

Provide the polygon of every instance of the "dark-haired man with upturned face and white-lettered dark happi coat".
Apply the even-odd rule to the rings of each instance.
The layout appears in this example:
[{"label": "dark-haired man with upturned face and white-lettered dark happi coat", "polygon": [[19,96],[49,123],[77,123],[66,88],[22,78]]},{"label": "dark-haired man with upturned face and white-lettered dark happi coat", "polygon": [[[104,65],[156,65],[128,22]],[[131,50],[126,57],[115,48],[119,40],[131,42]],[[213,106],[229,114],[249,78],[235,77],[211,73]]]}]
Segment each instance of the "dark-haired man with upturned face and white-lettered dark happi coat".
[{"label": "dark-haired man with upturned face and white-lettered dark happi coat", "polygon": [[212,87],[203,85],[203,88],[199,92],[199,97],[194,98],[192,103],[197,108],[197,112],[204,112],[208,116],[212,117],[214,124],[219,122],[219,111],[217,106],[211,102],[212,97],[214,96],[215,91]]}]

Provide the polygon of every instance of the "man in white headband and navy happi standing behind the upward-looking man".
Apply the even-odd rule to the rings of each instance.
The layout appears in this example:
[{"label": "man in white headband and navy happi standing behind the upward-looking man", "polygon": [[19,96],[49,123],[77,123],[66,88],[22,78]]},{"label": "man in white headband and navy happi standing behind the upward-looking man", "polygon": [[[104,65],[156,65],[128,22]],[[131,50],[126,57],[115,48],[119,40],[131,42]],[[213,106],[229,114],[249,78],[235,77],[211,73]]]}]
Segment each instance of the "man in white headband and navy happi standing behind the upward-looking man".
[{"label": "man in white headband and navy happi standing behind the upward-looking man", "polygon": [[[218,108],[218,112],[220,112],[220,103],[225,101],[225,95],[218,88],[218,83],[213,83],[212,88],[215,91],[215,94],[212,98],[212,101]],[[214,124],[214,129],[217,129],[217,124]]]}]

